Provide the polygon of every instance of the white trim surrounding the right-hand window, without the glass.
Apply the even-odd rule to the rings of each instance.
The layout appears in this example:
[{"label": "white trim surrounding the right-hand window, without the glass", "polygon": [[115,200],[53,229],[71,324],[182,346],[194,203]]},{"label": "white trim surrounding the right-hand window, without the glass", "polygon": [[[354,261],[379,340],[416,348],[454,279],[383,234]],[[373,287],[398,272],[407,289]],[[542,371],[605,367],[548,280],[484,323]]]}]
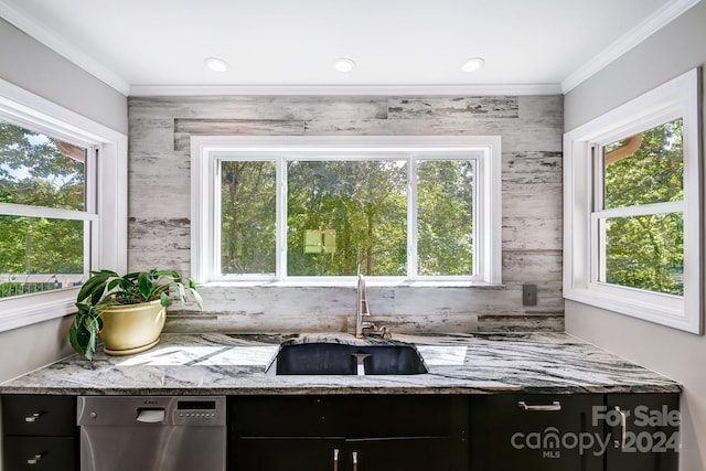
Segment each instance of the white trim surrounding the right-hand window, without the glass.
[{"label": "white trim surrounding the right-hand window, without the glass", "polygon": [[[703,333],[700,71],[694,68],[564,135],[564,297],[692,333]],[[592,146],[684,118],[684,297],[597,281]],[[648,208],[649,210],[649,208]],[[642,210],[637,210],[638,212]],[[607,214],[603,212],[603,215]]]}]

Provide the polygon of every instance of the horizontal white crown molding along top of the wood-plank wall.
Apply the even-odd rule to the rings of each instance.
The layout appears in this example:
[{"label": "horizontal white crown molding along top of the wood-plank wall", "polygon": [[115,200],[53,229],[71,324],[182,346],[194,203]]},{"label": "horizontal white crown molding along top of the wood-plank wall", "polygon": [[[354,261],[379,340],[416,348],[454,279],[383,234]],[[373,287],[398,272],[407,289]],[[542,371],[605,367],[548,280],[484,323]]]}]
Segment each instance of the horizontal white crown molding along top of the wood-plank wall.
[{"label": "horizontal white crown molding along top of the wood-plank wall", "polygon": [[560,95],[559,84],[507,85],[132,85],[130,96]]}]

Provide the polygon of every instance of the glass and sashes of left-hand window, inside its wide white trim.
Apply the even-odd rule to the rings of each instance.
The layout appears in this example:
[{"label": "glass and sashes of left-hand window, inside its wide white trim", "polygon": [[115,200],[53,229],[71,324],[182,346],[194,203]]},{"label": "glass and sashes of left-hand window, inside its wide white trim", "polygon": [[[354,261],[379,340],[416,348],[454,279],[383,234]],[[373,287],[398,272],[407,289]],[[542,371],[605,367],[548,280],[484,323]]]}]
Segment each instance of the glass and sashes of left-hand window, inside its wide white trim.
[{"label": "glass and sashes of left-hand window, inside its wide white trim", "polygon": [[96,151],[0,119],[0,298],[84,280]]}]

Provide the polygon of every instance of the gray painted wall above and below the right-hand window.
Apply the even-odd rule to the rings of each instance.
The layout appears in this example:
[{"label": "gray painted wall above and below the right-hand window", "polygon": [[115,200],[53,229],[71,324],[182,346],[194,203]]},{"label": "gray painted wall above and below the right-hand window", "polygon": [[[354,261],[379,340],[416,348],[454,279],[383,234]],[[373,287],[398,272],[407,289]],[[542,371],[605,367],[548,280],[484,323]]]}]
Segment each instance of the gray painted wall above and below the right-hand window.
[{"label": "gray painted wall above and below the right-hand window", "polygon": [[[567,94],[566,130],[706,63],[706,2]],[[706,119],[704,119],[706,121]],[[706,156],[704,152],[702,156]],[[566,302],[566,330],[684,385],[681,469],[706,470],[706,338]]]}]

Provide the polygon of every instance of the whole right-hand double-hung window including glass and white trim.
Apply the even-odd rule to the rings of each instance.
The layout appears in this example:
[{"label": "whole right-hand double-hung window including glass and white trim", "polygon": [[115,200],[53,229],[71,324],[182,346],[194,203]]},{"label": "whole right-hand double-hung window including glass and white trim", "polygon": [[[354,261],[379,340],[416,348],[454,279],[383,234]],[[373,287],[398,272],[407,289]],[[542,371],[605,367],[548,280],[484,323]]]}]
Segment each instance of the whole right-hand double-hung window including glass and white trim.
[{"label": "whole right-hand double-hung window including glass and white trim", "polygon": [[698,79],[565,136],[566,298],[700,333]]}]

